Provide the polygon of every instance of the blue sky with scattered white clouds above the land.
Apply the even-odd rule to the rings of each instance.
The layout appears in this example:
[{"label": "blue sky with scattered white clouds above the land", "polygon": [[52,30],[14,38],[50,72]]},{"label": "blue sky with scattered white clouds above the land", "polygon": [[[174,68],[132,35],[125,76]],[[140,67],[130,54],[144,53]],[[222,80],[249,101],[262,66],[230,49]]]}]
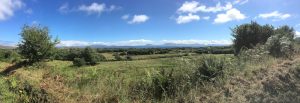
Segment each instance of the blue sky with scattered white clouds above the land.
[{"label": "blue sky with scattered white clouds above the land", "polygon": [[231,29],[257,21],[300,35],[300,0],[0,0],[0,45],[21,28],[47,26],[60,46],[231,44]]}]

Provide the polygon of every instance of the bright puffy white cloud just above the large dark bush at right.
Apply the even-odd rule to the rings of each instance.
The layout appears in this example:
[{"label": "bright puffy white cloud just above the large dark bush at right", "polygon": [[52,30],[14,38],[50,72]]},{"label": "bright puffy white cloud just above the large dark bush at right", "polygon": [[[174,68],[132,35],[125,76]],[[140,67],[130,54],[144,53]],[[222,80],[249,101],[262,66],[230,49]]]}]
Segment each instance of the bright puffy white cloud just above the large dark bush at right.
[{"label": "bright puffy white cloud just above the large dark bush at right", "polygon": [[243,20],[246,16],[242,14],[236,8],[226,11],[225,14],[218,14],[217,18],[214,20],[214,23],[226,23],[233,20]]}]

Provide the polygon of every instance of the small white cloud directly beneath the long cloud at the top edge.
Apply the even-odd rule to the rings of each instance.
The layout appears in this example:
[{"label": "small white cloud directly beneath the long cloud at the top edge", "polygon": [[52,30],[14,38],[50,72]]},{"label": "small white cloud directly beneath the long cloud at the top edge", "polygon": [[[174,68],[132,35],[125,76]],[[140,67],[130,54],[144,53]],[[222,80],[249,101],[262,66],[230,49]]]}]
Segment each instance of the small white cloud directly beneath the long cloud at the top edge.
[{"label": "small white cloud directly beneath the long cloud at the top edge", "polygon": [[180,15],[177,19],[176,22],[177,24],[184,24],[184,23],[189,23],[192,21],[198,21],[200,20],[200,17],[198,15],[193,15],[193,14],[188,14],[185,16]]}]

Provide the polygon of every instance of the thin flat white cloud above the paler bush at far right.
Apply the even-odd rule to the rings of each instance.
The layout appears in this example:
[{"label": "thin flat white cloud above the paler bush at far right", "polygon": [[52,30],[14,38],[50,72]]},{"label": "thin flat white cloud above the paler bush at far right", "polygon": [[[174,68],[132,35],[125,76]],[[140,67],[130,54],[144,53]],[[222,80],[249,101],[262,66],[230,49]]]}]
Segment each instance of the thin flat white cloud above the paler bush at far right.
[{"label": "thin flat white cloud above the paler bush at far right", "polygon": [[271,18],[273,21],[277,21],[277,20],[284,20],[291,17],[290,14],[284,14],[284,13],[280,13],[278,11],[273,11],[270,13],[263,13],[263,14],[259,14],[258,18],[263,18],[263,19],[269,19]]}]

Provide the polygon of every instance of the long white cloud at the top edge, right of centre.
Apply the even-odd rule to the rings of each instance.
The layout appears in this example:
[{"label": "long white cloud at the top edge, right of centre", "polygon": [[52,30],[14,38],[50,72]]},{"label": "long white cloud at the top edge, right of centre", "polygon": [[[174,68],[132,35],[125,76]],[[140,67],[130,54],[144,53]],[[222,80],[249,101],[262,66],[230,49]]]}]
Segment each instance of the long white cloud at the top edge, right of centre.
[{"label": "long white cloud at the top edge, right of centre", "polygon": [[197,1],[186,1],[182,6],[177,10],[179,13],[197,13],[197,12],[219,12],[226,11],[232,8],[232,4],[228,2],[225,6],[221,6],[221,3],[218,2],[214,7],[207,7],[201,5]]}]

